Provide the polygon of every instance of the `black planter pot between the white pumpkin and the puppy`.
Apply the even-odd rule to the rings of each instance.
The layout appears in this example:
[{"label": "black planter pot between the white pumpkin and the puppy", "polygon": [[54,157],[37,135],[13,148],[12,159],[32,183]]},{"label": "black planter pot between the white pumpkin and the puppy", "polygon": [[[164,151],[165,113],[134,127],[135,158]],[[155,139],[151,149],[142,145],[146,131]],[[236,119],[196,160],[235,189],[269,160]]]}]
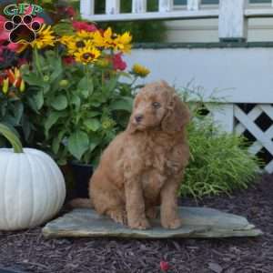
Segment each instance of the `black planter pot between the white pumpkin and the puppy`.
[{"label": "black planter pot between the white pumpkin and the puppy", "polygon": [[91,165],[71,162],[71,169],[74,176],[74,197],[88,197],[88,186],[90,177],[93,175],[93,167]]}]

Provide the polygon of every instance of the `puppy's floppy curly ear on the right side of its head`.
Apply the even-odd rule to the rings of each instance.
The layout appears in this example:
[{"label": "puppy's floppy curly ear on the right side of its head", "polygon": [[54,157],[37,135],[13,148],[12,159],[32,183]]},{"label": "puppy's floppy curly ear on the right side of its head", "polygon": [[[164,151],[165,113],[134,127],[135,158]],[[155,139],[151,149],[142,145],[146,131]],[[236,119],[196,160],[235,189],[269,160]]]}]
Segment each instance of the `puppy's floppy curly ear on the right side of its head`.
[{"label": "puppy's floppy curly ear on the right side of its head", "polygon": [[187,106],[182,103],[177,94],[172,94],[167,106],[167,113],[161,122],[161,128],[167,132],[181,131],[190,120],[190,113]]}]

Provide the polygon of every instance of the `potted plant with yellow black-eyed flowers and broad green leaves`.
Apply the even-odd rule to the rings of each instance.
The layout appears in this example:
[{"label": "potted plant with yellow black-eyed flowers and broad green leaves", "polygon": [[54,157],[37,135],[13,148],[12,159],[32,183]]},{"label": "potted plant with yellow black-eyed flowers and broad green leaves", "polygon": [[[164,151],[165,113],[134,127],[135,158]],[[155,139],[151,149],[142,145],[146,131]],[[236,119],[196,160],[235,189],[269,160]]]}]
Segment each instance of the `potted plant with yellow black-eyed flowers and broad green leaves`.
[{"label": "potted plant with yellow black-eyed flowers and broad green leaves", "polygon": [[125,72],[122,55],[131,48],[128,33],[116,35],[110,28],[103,31],[75,23],[70,35],[56,35],[44,25],[32,44],[33,62],[21,71],[36,128],[35,147],[45,150],[59,165],[72,165],[76,185],[84,183],[86,195],[92,167],[126,126],[136,78],[149,71],[135,66]]}]

